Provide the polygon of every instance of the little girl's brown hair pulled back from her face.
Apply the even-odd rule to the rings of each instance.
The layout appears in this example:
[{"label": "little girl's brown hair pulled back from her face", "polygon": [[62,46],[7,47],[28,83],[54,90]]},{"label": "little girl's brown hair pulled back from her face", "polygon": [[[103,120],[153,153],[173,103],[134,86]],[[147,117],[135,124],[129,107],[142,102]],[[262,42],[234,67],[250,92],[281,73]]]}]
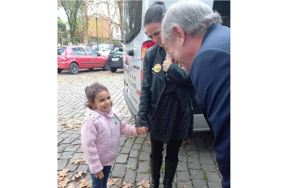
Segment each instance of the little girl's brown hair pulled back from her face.
[{"label": "little girl's brown hair pulled back from her face", "polygon": [[109,92],[104,85],[101,85],[98,82],[96,82],[95,84],[92,84],[90,86],[87,86],[85,88],[85,94],[86,94],[86,98],[87,98],[87,102],[85,103],[85,107],[89,107],[90,109],[92,109],[93,107],[91,107],[89,104],[94,103],[95,96],[101,91]]}]

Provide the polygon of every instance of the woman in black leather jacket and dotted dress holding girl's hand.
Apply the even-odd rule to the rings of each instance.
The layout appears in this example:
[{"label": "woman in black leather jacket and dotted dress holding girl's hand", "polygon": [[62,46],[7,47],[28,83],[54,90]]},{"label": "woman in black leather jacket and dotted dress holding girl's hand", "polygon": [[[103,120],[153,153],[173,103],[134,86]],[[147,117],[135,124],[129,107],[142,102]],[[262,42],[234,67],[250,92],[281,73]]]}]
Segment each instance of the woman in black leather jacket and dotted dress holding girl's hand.
[{"label": "woman in black leather jacket and dotted dress holding girl's hand", "polygon": [[180,146],[184,138],[192,137],[193,134],[191,99],[194,94],[189,90],[191,83],[188,73],[169,58],[161,42],[161,24],[165,11],[164,3],[157,1],[144,16],[145,33],[157,44],[145,53],[139,120],[136,123],[138,127],[147,127],[150,132],[152,188],[159,186],[163,144],[167,143],[163,186],[171,188]]}]

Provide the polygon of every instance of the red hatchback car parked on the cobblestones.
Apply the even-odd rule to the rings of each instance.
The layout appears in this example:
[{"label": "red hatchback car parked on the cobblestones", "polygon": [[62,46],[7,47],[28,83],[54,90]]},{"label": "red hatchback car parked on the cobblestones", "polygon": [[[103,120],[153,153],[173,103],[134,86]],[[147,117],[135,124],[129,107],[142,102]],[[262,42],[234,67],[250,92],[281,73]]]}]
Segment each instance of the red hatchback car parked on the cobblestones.
[{"label": "red hatchback car parked on the cobblestones", "polygon": [[87,46],[58,46],[58,73],[69,70],[71,74],[77,74],[79,69],[86,68],[108,71],[107,58]]}]

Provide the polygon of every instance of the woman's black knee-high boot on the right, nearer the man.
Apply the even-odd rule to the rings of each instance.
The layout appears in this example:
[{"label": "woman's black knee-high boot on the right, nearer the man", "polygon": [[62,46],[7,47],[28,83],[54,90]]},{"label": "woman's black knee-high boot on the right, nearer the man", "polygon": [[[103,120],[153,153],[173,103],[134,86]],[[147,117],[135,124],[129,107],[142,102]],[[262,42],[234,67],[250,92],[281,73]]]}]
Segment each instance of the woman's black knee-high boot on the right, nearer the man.
[{"label": "woman's black knee-high boot on the right, nearer the man", "polygon": [[167,160],[167,156],[165,157],[165,171],[163,181],[164,188],[172,188],[172,182],[177,170],[178,161],[177,163],[172,163],[171,161]]}]

